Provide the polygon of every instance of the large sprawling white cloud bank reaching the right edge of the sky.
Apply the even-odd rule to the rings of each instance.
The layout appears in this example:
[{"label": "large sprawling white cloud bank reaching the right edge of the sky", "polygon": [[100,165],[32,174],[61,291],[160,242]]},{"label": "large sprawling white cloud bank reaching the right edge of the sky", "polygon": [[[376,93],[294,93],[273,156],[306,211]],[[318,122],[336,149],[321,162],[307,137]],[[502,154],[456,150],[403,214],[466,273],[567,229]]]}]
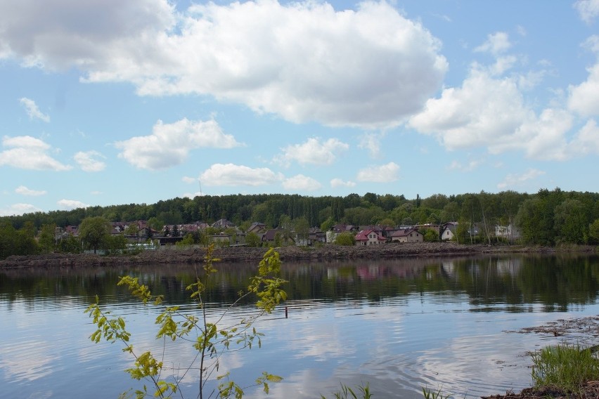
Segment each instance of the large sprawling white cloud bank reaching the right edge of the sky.
[{"label": "large sprawling white cloud bank reaching the right edge of the sky", "polygon": [[[599,63],[589,69],[584,83],[569,87],[568,110],[555,102],[555,107],[538,115],[527,107],[522,90],[537,84],[543,72],[497,77],[498,72],[472,65],[461,87],[444,89],[440,98],[428,100],[408,126],[436,136],[448,150],[486,147],[491,154],[522,151],[532,159],[555,161],[595,153],[594,136],[588,133],[593,129],[582,130],[572,139],[568,135],[574,126],[572,111],[598,115]],[[452,167],[468,166],[455,163]]]}]

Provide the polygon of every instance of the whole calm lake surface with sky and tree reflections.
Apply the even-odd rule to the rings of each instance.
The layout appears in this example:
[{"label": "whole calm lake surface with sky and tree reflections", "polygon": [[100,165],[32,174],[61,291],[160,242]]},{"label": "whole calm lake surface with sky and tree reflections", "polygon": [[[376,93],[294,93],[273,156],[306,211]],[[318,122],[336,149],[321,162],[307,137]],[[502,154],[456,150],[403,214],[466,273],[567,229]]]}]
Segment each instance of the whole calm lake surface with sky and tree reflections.
[{"label": "whole calm lake surface with sky and tree reflections", "polygon": [[[254,267],[219,265],[210,315],[236,299]],[[131,365],[122,346],[89,341],[94,326],[83,311],[98,294],[105,310],[126,318],[136,348],[160,353],[158,311],[116,287],[118,278],[136,275],[192,312],[185,287],[194,273],[193,266],[0,271],[3,396],[117,398],[139,388],[122,371]],[[366,382],[375,398],[422,398],[423,386],[458,398],[519,391],[530,384],[527,351],[564,337],[510,330],[599,314],[596,256],[285,263],[283,277],[289,317],[281,307],[258,322],[262,348],[228,353],[220,368],[242,386],[262,371],[280,375],[271,398],[332,397],[340,383]],[[253,312],[242,304],[224,322]],[[194,355],[183,343],[165,353],[173,367]],[[193,375],[183,381],[186,397],[195,397]]]}]

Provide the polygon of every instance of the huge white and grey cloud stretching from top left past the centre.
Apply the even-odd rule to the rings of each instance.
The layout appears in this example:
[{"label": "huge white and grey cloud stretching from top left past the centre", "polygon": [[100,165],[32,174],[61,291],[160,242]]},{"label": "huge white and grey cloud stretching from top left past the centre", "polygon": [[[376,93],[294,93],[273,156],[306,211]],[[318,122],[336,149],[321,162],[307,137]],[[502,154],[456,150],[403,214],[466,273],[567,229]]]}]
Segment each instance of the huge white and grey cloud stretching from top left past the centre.
[{"label": "huge white and grey cloud stretching from top left past the centre", "polygon": [[4,56],[75,66],[89,82],[128,81],[141,95],[210,95],[292,122],[397,126],[448,69],[440,41],[385,1],[355,10],[274,0],[179,11],[167,0],[38,3],[0,6]]}]

